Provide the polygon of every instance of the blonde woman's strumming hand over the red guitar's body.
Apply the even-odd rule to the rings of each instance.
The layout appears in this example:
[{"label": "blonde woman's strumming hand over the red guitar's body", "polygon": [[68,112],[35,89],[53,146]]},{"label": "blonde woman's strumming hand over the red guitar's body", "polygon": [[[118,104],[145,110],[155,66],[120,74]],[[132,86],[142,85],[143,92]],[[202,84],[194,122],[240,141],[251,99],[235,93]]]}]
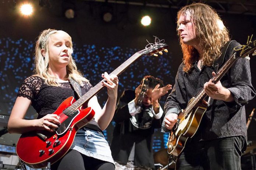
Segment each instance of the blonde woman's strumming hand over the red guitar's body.
[{"label": "blonde woman's strumming hand over the red guitar's body", "polygon": [[56,114],[47,114],[41,119],[38,119],[37,123],[40,130],[48,130],[50,132],[57,129],[58,125],[60,125],[60,117]]}]

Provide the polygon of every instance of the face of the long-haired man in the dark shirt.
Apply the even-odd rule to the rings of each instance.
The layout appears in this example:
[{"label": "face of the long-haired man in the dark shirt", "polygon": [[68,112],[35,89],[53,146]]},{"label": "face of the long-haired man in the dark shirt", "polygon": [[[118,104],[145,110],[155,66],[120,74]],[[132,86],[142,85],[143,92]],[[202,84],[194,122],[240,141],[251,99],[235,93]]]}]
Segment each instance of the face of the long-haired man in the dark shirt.
[{"label": "face of the long-haired man in the dark shirt", "polygon": [[196,39],[196,29],[189,11],[186,11],[184,15],[179,17],[178,25],[178,32],[183,43],[195,47],[195,45],[198,44]]}]

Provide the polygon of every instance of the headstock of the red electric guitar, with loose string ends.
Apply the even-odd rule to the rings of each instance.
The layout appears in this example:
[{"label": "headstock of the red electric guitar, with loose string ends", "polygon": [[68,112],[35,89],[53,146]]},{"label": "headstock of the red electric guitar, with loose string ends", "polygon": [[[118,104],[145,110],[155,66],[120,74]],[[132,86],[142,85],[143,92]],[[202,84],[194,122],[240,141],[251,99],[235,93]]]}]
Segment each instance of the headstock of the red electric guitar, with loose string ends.
[{"label": "headstock of the red electric guitar, with loose string ends", "polygon": [[159,40],[156,37],[156,40],[153,43],[149,43],[145,49],[137,52],[141,55],[154,55],[154,56],[158,56],[157,53],[159,53],[160,55],[163,54],[162,51],[164,52],[168,52],[168,50],[166,49],[168,47],[168,45],[166,43],[164,43],[164,40]]}]

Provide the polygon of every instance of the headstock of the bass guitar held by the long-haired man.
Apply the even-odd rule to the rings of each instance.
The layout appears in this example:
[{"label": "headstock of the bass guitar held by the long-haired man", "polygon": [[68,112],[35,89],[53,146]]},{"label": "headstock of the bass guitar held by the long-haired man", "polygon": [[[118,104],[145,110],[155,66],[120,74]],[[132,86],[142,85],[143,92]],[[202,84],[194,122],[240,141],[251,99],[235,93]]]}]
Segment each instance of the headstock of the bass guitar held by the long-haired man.
[{"label": "headstock of the bass guitar held by the long-haired man", "polygon": [[239,53],[239,56],[237,57],[249,59],[250,53],[252,53],[252,56],[256,55],[256,39],[252,40],[252,36],[248,36],[246,45],[239,45],[239,47],[235,47],[235,51]]}]

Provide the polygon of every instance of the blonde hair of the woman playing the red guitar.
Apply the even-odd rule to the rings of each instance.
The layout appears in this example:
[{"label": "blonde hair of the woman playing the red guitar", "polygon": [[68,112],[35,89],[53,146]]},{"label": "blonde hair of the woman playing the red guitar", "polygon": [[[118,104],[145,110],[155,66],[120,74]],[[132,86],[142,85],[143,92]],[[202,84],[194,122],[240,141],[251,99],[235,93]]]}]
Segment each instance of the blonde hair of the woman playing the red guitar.
[{"label": "blonde hair of the woman playing the red guitar", "polygon": [[[36,41],[36,48],[35,48],[35,67],[34,67],[34,73],[42,77],[47,85],[52,86],[60,86],[60,84],[57,82],[57,78],[55,76],[52,76],[48,71],[48,63],[49,63],[49,39],[52,34],[58,33],[58,30],[55,29],[46,29],[43,30],[38,40]],[[70,35],[67,33],[68,40],[70,41],[70,48],[71,53],[73,53],[72,48],[72,40]],[[45,49],[45,56],[42,55],[41,49]],[[83,81],[88,82],[86,78],[83,77],[81,72],[77,70],[77,66],[75,64],[74,59],[71,56],[70,62],[66,66],[67,69],[67,76],[65,78],[73,78],[75,81],[77,81],[80,85],[83,85]]]}]

